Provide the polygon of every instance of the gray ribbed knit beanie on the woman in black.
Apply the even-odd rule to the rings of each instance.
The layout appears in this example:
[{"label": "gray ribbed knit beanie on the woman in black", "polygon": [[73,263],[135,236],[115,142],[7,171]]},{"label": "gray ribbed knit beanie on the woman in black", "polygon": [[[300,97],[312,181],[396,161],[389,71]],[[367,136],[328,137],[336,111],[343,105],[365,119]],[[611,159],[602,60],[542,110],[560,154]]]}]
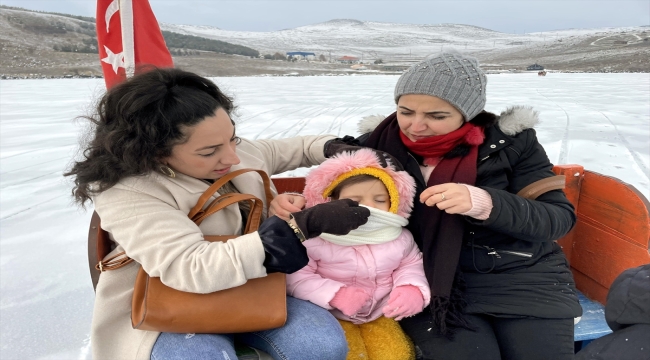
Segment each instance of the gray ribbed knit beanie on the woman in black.
[{"label": "gray ribbed knit beanie on the woman in black", "polygon": [[460,53],[441,53],[411,66],[395,85],[395,103],[406,94],[423,94],[452,104],[470,121],[485,107],[487,77],[478,61]]}]

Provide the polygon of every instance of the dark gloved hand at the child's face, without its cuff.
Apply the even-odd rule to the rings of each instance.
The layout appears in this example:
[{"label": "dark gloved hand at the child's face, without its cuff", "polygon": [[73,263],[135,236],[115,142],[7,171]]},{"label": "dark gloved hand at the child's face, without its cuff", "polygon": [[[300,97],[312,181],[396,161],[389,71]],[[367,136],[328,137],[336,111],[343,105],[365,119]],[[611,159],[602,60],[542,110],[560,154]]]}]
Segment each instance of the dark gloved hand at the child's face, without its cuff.
[{"label": "dark gloved hand at the child's face, without its cuff", "polygon": [[345,235],[368,222],[369,216],[370,210],[350,199],[333,200],[291,214],[307,239],[322,233]]}]

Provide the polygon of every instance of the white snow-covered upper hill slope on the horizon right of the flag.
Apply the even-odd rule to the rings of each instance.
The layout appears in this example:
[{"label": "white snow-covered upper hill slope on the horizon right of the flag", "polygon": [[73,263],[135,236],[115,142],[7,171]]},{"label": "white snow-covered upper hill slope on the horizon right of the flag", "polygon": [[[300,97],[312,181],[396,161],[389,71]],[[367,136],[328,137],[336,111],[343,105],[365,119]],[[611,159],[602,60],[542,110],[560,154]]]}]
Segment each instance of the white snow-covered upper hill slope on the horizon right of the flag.
[{"label": "white snow-covered upper hill slope on the horizon right of the flag", "polygon": [[[313,51],[332,56],[355,55],[369,60],[408,59],[455,48],[463,52],[512,50],[562,40],[596,35],[640,33],[627,44],[643,42],[644,27],[569,29],[529,34],[501,33],[461,24],[415,25],[331,20],[271,32],[228,31],[210,26],[161,24],[164,30],[249,46],[262,53]],[[647,42],[647,41],[646,41]]]}]

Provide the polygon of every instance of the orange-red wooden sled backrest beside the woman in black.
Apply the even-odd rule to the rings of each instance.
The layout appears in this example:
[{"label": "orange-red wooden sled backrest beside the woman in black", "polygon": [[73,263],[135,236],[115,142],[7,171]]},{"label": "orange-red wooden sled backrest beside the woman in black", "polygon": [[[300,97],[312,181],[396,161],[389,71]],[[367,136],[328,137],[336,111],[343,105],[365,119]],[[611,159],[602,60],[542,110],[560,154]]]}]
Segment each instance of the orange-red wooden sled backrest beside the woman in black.
[{"label": "orange-red wooden sled backrest beside the woman in black", "polygon": [[578,289],[605,304],[620,273],[650,263],[650,203],[634,186],[580,165],[558,165],[553,171],[566,176],[565,193],[578,218],[558,242]]}]

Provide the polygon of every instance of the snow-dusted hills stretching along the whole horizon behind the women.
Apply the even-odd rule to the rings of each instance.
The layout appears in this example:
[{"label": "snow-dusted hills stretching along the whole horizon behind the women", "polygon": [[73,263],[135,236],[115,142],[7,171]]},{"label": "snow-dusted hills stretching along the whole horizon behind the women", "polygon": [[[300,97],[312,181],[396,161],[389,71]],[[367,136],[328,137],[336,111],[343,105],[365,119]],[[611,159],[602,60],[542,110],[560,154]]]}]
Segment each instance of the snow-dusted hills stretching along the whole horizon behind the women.
[{"label": "snow-dusted hills stretching along the whole horizon behind the women", "polygon": [[[650,72],[650,27],[568,29],[509,34],[461,24],[415,25],[351,19],[271,32],[228,31],[210,26],[161,24],[163,30],[243,45],[262,54],[309,51],[332,62],[251,59],[212,51],[174,63],[204,76],[327,75],[358,72],[336,63],[355,56],[366,65],[377,59],[405,65],[454,48],[476,56],[486,70],[525,70],[538,63],[548,70]],[[0,6],[0,78],[101,76],[94,19],[38,13]],[[168,43],[170,45],[170,43]],[[65,50],[64,48],[68,48]],[[399,71],[370,65],[367,73]]]}]

